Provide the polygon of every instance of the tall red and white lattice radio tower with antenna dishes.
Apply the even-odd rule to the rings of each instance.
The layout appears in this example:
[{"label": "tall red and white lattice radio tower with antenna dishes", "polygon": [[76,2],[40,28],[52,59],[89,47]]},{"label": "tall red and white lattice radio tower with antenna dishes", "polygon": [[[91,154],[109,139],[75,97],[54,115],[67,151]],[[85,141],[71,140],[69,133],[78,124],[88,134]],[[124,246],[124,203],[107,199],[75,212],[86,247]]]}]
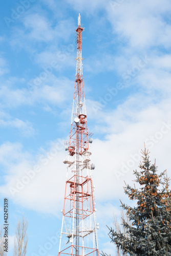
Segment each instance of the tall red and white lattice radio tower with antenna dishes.
[{"label": "tall red and white lattice radio tower with antenna dishes", "polygon": [[62,211],[62,227],[59,255],[99,256],[94,186],[92,182],[91,152],[89,143],[93,142],[88,132],[86,104],[82,75],[82,31],[80,14],[77,33],[77,66],[75,76],[74,101],[71,121],[70,141],[66,142],[67,179]]}]

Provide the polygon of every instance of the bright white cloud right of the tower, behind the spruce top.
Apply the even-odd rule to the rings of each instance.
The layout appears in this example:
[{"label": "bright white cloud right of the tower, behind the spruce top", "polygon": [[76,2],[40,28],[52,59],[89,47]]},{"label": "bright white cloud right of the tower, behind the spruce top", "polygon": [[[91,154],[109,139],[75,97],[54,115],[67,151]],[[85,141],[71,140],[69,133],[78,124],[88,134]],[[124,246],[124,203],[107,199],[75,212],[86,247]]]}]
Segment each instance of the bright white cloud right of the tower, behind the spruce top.
[{"label": "bright white cloud right of the tower, behind the spruce top", "polygon": [[[133,169],[138,168],[140,148],[146,147],[152,151],[151,159],[156,158],[159,170],[169,168],[169,151],[171,139],[170,100],[156,104],[141,102],[132,98],[110,113],[96,113],[100,120],[95,134],[99,130],[108,134],[105,140],[95,139],[92,145],[92,160],[96,164],[94,182],[98,200],[119,199],[123,196],[123,180],[133,184]],[[142,108],[142,103],[144,104]],[[94,119],[95,120],[95,119]],[[165,125],[164,123],[168,124]],[[165,127],[163,128],[163,125]]]}]

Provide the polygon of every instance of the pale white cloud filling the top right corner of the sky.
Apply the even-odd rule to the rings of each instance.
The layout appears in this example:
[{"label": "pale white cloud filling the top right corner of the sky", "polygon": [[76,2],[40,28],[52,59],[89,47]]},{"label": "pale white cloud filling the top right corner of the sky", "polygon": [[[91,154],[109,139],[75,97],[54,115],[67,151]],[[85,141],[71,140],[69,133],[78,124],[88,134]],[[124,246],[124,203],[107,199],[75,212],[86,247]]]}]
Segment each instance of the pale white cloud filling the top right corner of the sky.
[{"label": "pale white cloud filling the top right corner of the sky", "polygon": [[110,1],[106,5],[108,18],[114,32],[129,40],[131,47],[150,48],[163,45],[169,47],[171,26],[164,15],[168,15],[170,2],[165,1]]}]

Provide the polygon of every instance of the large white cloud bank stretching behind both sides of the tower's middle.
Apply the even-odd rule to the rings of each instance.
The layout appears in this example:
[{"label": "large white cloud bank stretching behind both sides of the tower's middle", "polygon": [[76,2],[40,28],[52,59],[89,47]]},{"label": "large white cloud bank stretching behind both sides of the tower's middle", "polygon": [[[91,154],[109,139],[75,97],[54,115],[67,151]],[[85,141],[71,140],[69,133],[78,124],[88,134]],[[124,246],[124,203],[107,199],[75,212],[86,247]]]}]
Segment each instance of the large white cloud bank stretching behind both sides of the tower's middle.
[{"label": "large white cloud bank stretching behind both sides of the tower's middle", "polygon": [[[95,197],[101,203],[114,198],[115,200],[119,200],[119,198],[125,200],[123,180],[133,184],[133,169],[139,165],[139,150],[143,148],[144,141],[146,147],[152,151],[152,162],[156,158],[159,170],[168,168],[168,176],[171,176],[169,169],[170,102],[163,100],[160,103],[147,104],[142,109],[136,109],[138,102],[139,99],[134,98],[123,103],[111,113],[99,112],[97,114],[97,118],[101,120],[98,129],[105,124],[105,133],[107,134],[104,140],[95,139],[91,148],[92,162],[96,164],[93,171],[96,186]],[[128,114],[129,117],[127,117]],[[4,151],[3,147],[7,150]],[[6,152],[5,156],[2,155],[3,159],[8,159],[9,154],[13,155],[14,152],[15,158],[17,158],[17,154],[20,155],[20,157],[18,155],[20,161],[17,161],[16,165],[10,166],[10,175],[7,175],[7,184],[1,187],[1,193],[10,196],[9,187],[16,187],[16,184],[18,187],[22,187],[22,184],[19,183],[24,176],[29,175],[26,172],[28,170],[33,172],[35,165],[38,165],[39,172],[35,171],[35,177],[30,178],[28,184],[24,185],[21,191],[15,193],[13,200],[31,209],[35,207],[37,210],[55,214],[57,203],[61,204],[63,201],[59,191],[64,189],[66,176],[66,167],[62,163],[65,152],[61,151],[61,149],[63,150],[61,143],[58,144],[57,150],[53,149],[53,151],[54,145],[52,145],[49,152],[43,151],[44,157],[41,158],[41,161],[37,160],[35,165],[29,162],[27,154],[22,157],[20,146],[17,148],[14,145],[15,150],[12,152],[11,146],[4,145],[3,147],[2,152]],[[30,156],[30,158],[32,157]],[[27,183],[27,178],[24,182]],[[51,209],[48,207],[49,201],[54,205]],[[106,205],[106,208],[110,207]]]}]

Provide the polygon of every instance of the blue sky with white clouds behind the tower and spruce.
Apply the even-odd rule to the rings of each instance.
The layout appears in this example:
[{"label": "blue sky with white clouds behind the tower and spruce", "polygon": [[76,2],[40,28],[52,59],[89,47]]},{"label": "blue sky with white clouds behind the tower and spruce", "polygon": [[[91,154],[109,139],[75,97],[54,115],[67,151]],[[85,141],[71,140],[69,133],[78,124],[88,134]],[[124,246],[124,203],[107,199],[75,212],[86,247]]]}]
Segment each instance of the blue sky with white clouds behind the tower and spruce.
[{"label": "blue sky with white clouds behind the tower and spruce", "polygon": [[152,162],[156,159],[159,170],[171,176],[170,12],[169,0],[3,2],[0,217],[3,223],[7,197],[8,256],[23,214],[29,221],[27,255],[58,253],[78,13],[85,27],[83,76],[88,126],[94,133],[100,251],[116,255],[105,225],[119,216],[119,199],[133,204],[123,193],[124,180],[133,185],[144,142]]}]

